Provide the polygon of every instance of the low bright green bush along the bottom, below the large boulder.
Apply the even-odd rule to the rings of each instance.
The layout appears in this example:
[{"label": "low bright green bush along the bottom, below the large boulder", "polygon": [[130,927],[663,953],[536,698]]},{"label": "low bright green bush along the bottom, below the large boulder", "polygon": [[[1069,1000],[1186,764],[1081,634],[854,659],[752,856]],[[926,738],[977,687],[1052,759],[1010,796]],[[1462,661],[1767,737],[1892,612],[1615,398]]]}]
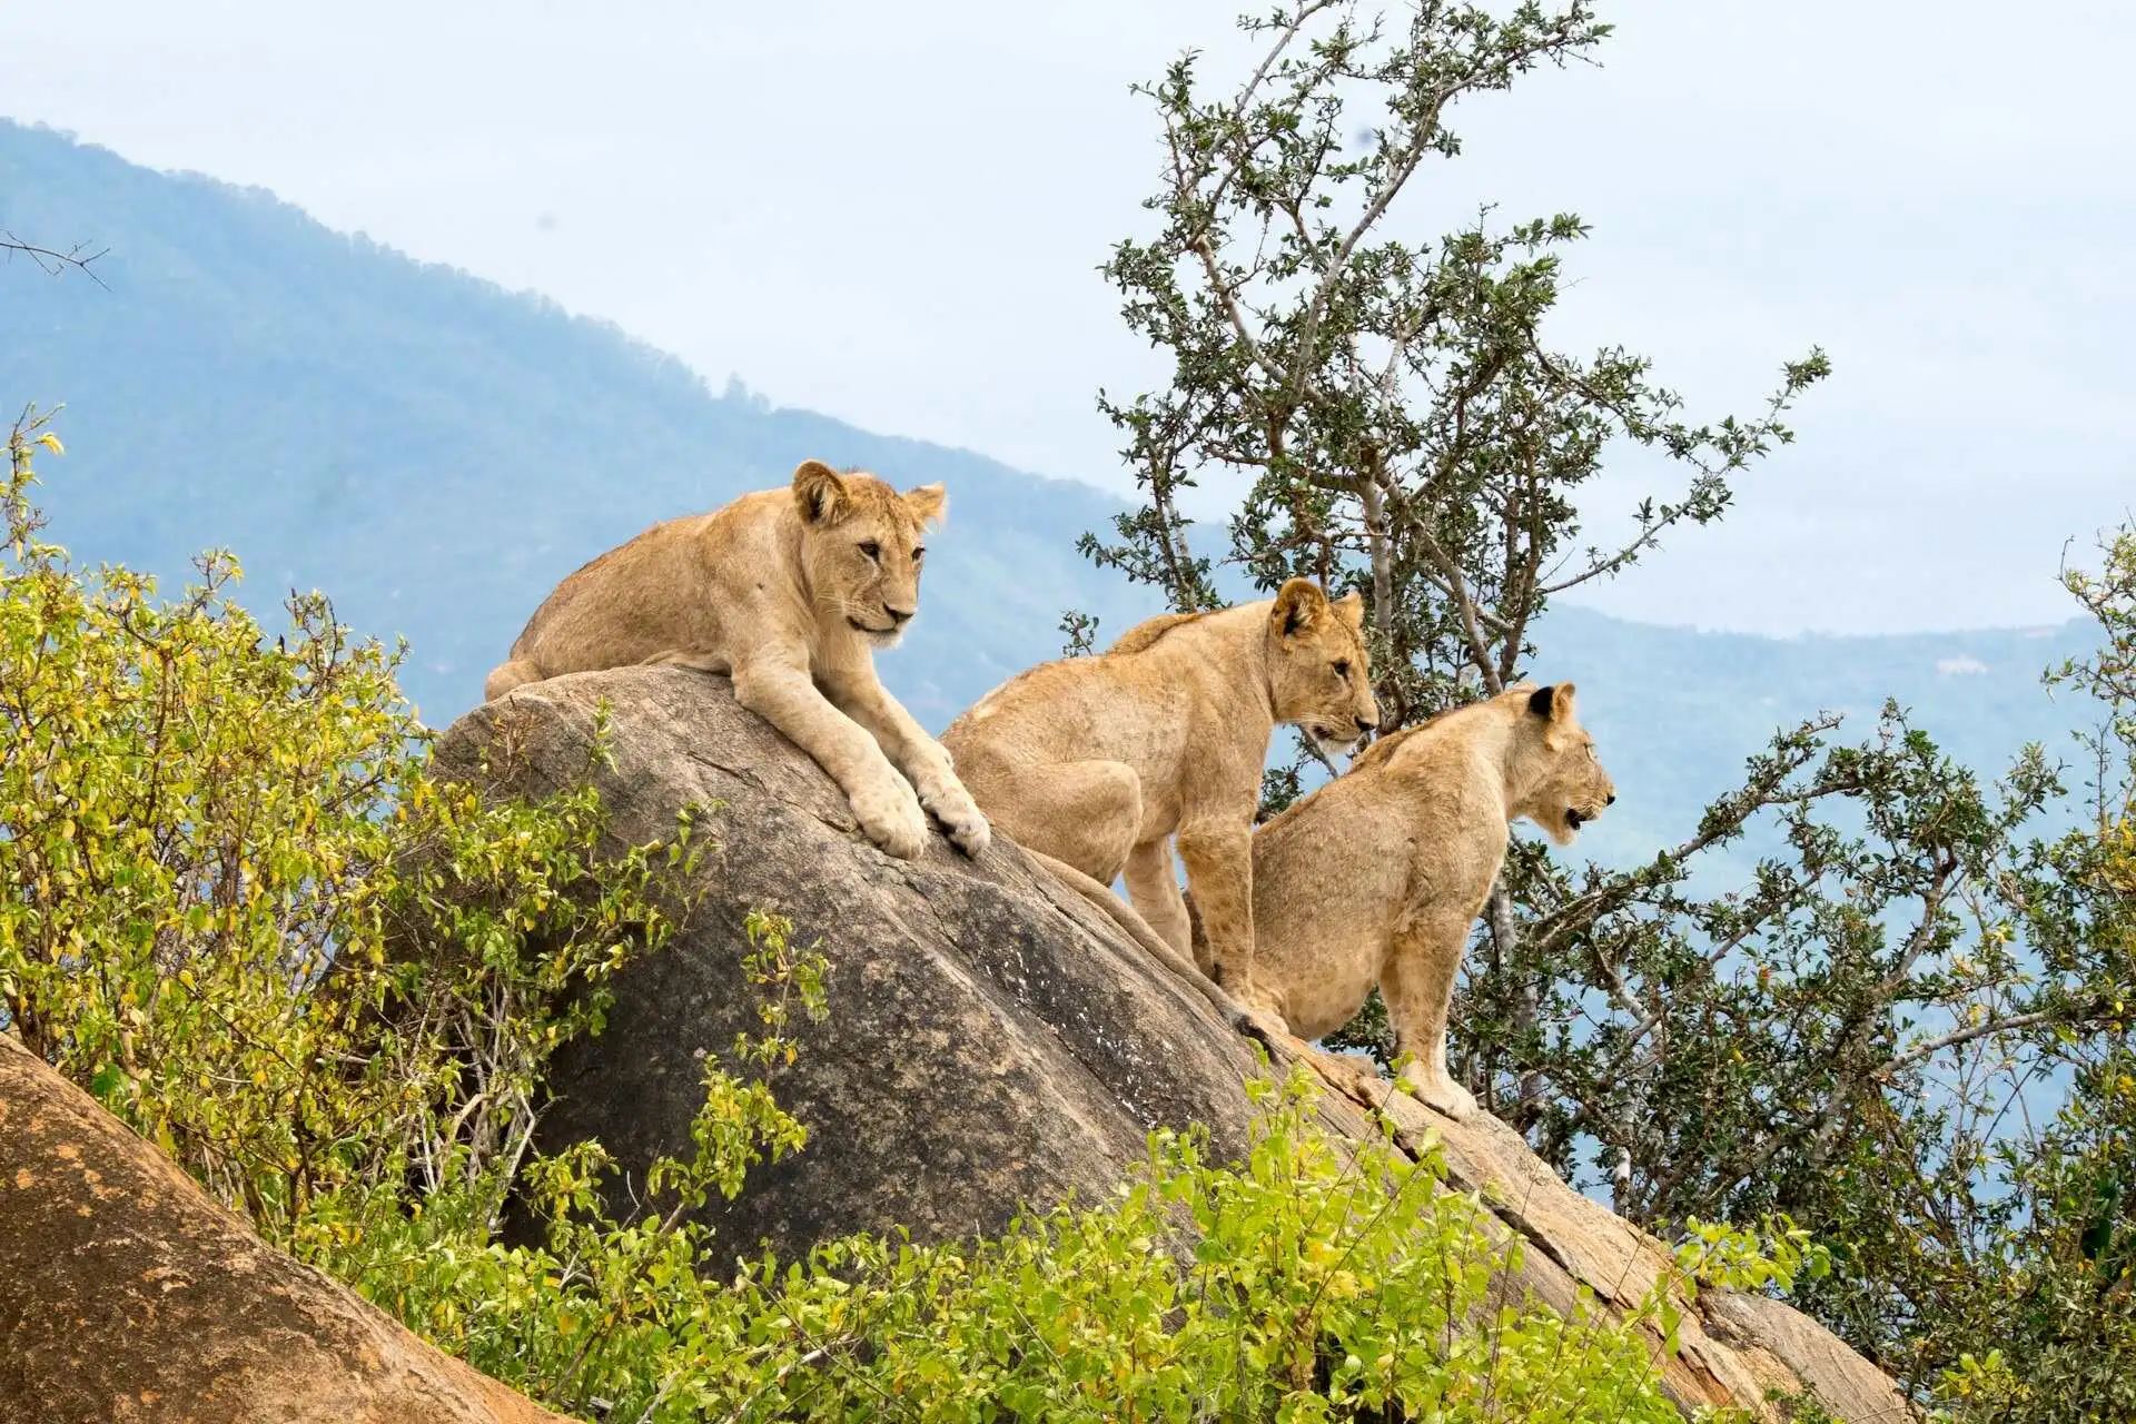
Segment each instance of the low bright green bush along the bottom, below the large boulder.
[{"label": "low bright green bush along the bottom, below the large boulder", "polygon": [[[711,1089],[733,1080],[713,1070]],[[560,1168],[549,1185],[583,1196],[547,1249],[472,1245],[461,1211],[389,1215],[342,1268],[481,1368],[619,1420],[1679,1418],[1653,1358],[1675,1328],[1662,1296],[1638,1311],[1651,1334],[1493,1298],[1517,1247],[1438,1157],[1333,1144],[1303,1076],[1256,1091],[1245,1164],[1158,1132],[1113,1200],[1027,1213],[998,1240],[854,1236],[722,1270],[698,1228],[602,1221],[587,1176]],[[1707,1232],[1670,1287],[1752,1268],[1773,1270],[1756,1243]]]}]

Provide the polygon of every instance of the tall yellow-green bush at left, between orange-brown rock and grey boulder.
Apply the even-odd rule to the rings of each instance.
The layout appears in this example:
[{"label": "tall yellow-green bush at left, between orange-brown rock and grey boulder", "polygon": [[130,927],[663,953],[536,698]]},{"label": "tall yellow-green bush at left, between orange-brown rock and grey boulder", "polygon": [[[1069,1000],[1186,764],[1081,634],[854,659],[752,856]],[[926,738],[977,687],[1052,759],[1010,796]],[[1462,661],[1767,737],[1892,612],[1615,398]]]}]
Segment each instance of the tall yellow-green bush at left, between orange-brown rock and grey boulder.
[{"label": "tall yellow-green bush at left, between orange-brown rock and grey boulder", "polygon": [[[536,1076],[669,920],[590,790],[427,775],[393,655],[318,596],[267,634],[224,555],[179,600],[36,540],[38,421],[0,487],[0,1012],[271,1236],[455,1146],[517,1153]],[[451,954],[436,946],[455,946]]]}]

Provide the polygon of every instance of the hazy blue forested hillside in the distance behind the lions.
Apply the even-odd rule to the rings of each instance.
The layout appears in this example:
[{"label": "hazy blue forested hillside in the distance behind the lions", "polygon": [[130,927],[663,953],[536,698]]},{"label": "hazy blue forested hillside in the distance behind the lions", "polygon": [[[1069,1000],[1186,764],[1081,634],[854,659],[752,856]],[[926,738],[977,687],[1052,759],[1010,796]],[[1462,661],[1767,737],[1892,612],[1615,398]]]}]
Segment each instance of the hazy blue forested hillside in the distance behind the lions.
[{"label": "hazy blue forested hillside in the distance behind the lions", "polygon": [[[109,290],[0,269],[0,404],[66,404],[51,536],[81,559],[182,574],[233,549],[254,604],[327,589],[406,636],[429,722],[464,711],[543,594],[647,523],[784,482],[803,457],[944,480],[923,617],[884,679],[940,728],[1059,651],[1064,606],[1117,632],[1153,600],[1074,536],[1113,504],[963,450],[891,440],[733,389],[622,331],[331,233],[258,190],[167,175],[0,124],[0,226],[111,248]],[[1666,553],[1662,555],[1666,557]],[[1623,790],[1587,837],[1608,860],[1690,833],[1773,728],[1899,696],[1963,760],[2063,745],[2038,687],[2083,645],[2040,632],[1696,634],[1555,611],[1536,673],[1570,677]]]}]

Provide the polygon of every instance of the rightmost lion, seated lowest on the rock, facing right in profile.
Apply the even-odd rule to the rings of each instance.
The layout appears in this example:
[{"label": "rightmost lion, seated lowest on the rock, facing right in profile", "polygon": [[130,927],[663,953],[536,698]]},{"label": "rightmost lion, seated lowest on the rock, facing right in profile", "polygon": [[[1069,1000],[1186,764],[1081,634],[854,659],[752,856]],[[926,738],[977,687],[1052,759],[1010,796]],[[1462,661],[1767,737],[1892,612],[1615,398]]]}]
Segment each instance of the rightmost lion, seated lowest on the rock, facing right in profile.
[{"label": "rightmost lion, seated lowest on the rock, facing right in profile", "polygon": [[1470,927],[1525,816],[1559,845],[1617,801],[1572,683],[1512,687],[1380,739],[1254,833],[1260,988],[1290,1033],[1346,1025],[1371,986],[1416,1095],[1452,1119],[1446,1008]]}]

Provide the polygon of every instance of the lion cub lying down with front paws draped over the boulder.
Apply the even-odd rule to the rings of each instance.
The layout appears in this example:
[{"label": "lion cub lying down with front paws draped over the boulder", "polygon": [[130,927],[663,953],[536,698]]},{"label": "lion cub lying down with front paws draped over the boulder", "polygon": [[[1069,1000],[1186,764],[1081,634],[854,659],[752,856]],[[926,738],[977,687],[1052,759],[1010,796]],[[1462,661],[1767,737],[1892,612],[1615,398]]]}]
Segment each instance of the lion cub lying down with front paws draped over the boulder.
[{"label": "lion cub lying down with front paws draped over the boulder", "polygon": [[940,485],[897,493],[803,461],[790,489],[658,523],[560,583],[483,696],[630,664],[733,673],[735,700],[831,773],[876,845],[918,856],[931,811],[976,856],[987,818],[869,651],[918,613],[921,534],[942,506]]}]

